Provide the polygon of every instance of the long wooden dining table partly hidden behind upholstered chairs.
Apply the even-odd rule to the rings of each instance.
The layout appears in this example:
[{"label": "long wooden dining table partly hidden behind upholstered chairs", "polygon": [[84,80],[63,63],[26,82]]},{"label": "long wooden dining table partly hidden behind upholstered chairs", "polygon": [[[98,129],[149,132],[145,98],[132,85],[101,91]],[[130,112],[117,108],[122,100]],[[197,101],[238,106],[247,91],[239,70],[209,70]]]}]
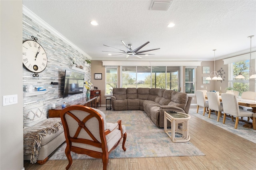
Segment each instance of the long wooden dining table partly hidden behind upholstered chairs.
[{"label": "long wooden dining table partly hidden behind upholstered chairs", "polygon": [[[205,98],[207,99],[207,96]],[[221,94],[219,95],[219,98],[220,98],[220,102],[222,102]],[[256,113],[256,100],[242,99],[242,98],[238,97],[237,101],[238,101],[238,105],[240,105],[240,106],[252,107],[252,112]],[[251,119],[252,119],[252,128],[253,128],[253,130],[256,130],[256,117],[251,117]],[[241,121],[244,121],[246,123],[251,123],[251,122],[245,121],[245,120],[241,120]],[[244,127],[246,127],[246,125],[244,125]]]}]

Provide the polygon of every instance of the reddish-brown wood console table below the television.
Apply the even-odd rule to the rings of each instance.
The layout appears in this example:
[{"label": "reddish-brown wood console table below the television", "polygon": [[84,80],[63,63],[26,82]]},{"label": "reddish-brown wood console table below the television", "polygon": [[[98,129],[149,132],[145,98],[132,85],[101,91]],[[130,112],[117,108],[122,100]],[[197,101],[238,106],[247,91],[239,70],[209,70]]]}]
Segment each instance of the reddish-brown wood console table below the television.
[{"label": "reddish-brown wood console table below the television", "polygon": [[[84,105],[84,106],[88,106],[91,107],[92,105],[96,105],[96,99],[97,97],[93,97],[92,99],[90,99],[89,97],[84,97],[84,98],[80,98],[77,99],[76,101],[72,101],[70,103],[67,103],[67,105]],[[68,106],[67,106],[68,107]],[[56,107],[55,109],[49,109],[49,118],[50,117],[60,117],[60,112],[62,111],[61,106]]]}]

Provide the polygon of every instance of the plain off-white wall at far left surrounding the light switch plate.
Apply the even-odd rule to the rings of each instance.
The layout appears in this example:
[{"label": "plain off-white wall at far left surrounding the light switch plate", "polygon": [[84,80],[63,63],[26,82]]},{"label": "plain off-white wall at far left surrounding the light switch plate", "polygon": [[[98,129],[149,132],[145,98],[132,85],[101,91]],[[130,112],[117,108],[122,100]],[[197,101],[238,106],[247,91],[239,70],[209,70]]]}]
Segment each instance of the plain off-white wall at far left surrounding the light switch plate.
[{"label": "plain off-white wall at far left surrounding the light switch plate", "polygon": [[[3,95],[18,104],[2,106]],[[22,1],[0,1],[0,169],[23,169]]]}]

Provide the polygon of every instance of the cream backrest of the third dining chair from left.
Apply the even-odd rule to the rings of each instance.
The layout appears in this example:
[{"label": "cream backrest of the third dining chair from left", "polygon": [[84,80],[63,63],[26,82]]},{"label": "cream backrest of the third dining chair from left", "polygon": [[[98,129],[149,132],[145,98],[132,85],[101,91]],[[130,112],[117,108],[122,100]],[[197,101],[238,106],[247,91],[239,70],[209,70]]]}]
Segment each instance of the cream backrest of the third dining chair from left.
[{"label": "cream backrest of the third dining chair from left", "polygon": [[221,99],[222,99],[223,112],[228,115],[233,115],[238,117],[239,106],[238,106],[238,101],[236,99],[236,96],[228,93],[222,93]]}]

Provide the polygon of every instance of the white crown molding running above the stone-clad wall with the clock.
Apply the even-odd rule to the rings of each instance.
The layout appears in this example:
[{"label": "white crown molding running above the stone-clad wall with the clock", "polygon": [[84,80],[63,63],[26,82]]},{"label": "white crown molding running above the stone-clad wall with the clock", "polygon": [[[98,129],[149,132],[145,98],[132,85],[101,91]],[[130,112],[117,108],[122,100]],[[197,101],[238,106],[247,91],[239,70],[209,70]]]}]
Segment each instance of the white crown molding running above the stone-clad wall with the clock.
[{"label": "white crown molding running above the stone-clad wall with the clock", "polygon": [[40,26],[44,27],[45,29],[49,30],[52,34],[66,42],[68,45],[85,55],[88,59],[92,59],[90,55],[85,53],[82,49],[80,49],[78,46],[76,46],[74,43],[70,42],[66,37],[64,37],[62,34],[60,34],[57,30],[52,28],[49,24],[47,24],[44,20],[42,20],[40,17],[38,17],[36,14],[34,14],[31,10],[29,10],[26,6],[22,6],[22,13],[29,18],[31,18],[34,22],[39,24]]}]

